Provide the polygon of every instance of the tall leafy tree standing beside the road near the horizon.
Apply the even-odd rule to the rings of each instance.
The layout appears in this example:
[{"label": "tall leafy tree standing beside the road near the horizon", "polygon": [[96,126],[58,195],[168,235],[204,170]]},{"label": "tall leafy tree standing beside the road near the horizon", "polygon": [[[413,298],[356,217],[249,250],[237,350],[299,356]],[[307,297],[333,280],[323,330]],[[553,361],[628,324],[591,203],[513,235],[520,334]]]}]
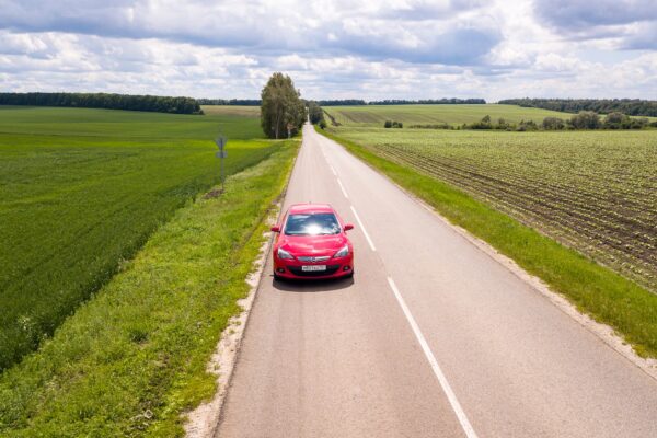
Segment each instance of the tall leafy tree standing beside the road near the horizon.
[{"label": "tall leafy tree standing beside the road near the horizon", "polygon": [[292,127],[292,134],[301,128],[306,107],[300,94],[289,76],[272,74],[261,93],[261,126],[267,137],[285,137],[288,126]]}]

